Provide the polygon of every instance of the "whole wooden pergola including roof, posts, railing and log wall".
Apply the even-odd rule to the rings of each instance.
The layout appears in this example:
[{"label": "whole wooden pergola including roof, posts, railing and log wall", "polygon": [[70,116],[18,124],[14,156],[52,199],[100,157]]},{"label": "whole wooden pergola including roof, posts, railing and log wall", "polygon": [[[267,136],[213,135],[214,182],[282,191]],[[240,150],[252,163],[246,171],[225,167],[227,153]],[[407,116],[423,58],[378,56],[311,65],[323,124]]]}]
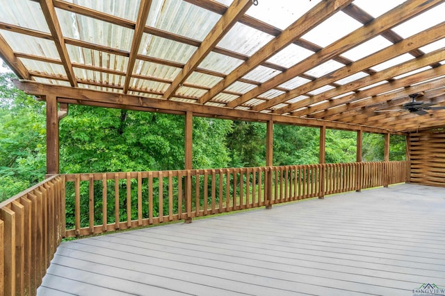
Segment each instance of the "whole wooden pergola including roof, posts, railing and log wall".
[{"label": "whole wooden pergola including roof, posts, railing and log wall", "polygon": [[[31,279],[26,271],[24,277],[20,272],[5,277],[0,294],[1,288],[8,293],[20,285],[35,291],[63,236],[190,222],[398,182],[444,186],[444,15],[445,0],[3,3],[0,58],[19,77],[17,87],[47,103],[49,178],[0,204],[0,238],[7,238],[4,245],[0,239],[4,270],[34,272]],[[58,123],[70,104],[184,115],[185,170],[59,175]],[[266,167],[193,170],[193,116],[266,123]],[[320,128],[320,164],[273,167],[274,123]],[[357,132],[356,163],[324,164],[326,129]],[[363,132],[385,134],[384,162],[362,163]],[[407,162],[389,162],[391,134],[407,136]],[[131,180],[138,184],[136,220]],[[90,186],[88,226],[79,218],[82,182]],[[94,220],[95,182],[102,182],[102,224]],[[111,182],[114,223],[106,217]],[[120,182],[127,184],[125,221],[119,216]],[[65,229],[67,183],[74,184],[72,229]],[[153,184],[159,185],[159,216],[153,211]],[[163,198],[170,202],[165,211]],[[211,203],[202,204],[203,198]],[[17,256],[16,244],[22,245]],[[37,259],[27,263],[31,258]]]}]

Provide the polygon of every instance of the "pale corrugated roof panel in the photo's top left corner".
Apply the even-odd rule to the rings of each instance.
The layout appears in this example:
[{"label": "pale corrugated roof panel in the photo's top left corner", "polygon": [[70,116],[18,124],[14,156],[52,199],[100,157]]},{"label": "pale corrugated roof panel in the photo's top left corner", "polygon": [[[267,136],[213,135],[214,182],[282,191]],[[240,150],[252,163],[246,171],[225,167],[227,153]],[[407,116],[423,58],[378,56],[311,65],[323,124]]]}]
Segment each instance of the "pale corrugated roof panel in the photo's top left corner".
[{"label": "pale corrugated roof panel in the photo's top left corner", "polygon": [[[49,33],[47,22],[38,2],[15,0],[13,3],[14,5],[10,1],[0,3],[0,20],[2,22]],[[20,9],[13,9],[15,7]]]}]

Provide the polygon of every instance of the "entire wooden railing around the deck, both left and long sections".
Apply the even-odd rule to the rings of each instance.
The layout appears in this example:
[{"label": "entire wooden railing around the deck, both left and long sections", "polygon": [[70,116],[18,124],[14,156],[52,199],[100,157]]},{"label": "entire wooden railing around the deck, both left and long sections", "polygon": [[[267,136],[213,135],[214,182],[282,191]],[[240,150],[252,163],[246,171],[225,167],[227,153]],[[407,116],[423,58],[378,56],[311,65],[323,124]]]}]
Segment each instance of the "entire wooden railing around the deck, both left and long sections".
[{"label": "entire wooden railing around the deck, both left and long sections", "polygon": [[189,222],[409,177],[410,162],[56,175],[0,204],[0,295],[35,295],[63,237]]}]

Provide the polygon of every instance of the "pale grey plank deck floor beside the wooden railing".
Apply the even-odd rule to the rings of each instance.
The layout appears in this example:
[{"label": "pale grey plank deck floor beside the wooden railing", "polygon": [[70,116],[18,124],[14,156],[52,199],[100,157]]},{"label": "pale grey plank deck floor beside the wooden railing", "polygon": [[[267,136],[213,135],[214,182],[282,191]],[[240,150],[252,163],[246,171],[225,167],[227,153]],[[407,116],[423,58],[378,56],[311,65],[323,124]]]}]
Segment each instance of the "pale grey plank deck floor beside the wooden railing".
[{"label": "pale grey plank deck floor beside the wooden railing", "polygon": [[413,295],[445,286],[445,189],[403,184],[62,243],[38,295]]}]

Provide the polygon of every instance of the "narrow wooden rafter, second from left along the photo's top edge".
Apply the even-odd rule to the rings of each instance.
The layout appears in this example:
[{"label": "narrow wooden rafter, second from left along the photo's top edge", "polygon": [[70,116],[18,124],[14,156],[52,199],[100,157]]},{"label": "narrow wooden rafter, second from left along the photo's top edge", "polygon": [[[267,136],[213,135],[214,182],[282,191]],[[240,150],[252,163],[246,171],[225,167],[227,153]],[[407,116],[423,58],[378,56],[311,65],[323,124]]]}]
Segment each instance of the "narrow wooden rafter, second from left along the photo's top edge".
[{"label": "narrow wooden rafter, second from left along the photo's top edge", "polygon": [[141,0],[139,4],[138,19],[136,20],[136,27],[134,28],[133,41],[131,42],[131,50],[129,55],[129,61],[127,65],[127,75],[124,82],[124,94],[127,94],[130,85],[131,74],[133,73],[133,67],[138,57],[138,50],[140,47],[140,40],[144,33],[145,23],[147,22],[148,13],[152,0]]}]

